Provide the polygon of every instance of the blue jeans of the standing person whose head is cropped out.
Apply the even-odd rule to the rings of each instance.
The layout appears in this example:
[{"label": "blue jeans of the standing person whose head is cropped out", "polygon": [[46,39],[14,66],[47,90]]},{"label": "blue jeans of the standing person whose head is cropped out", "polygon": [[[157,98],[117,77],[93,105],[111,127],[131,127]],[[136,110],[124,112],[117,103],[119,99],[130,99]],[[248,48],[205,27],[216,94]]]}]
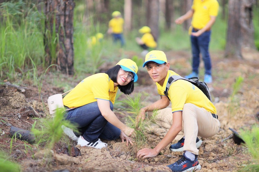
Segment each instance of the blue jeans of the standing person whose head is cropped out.
[{"label": "blue jeans of the standing person whose head is cropped out", "polygon": [[[192,29],[192,32],[195,32]],[[209,53],[209,43],[211,38],[211,31],[206,31],[200,36],[191,35],[192,43],[192,71],[199,74],[200,53],[204,62],[205,74],[211,75],[211,56]]]}]

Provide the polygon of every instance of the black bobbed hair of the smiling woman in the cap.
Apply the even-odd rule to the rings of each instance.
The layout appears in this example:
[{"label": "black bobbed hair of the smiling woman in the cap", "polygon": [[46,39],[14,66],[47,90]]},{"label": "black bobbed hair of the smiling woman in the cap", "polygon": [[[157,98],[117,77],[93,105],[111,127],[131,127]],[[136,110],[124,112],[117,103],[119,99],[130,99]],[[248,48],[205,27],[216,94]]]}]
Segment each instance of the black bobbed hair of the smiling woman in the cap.
[{"label": "black bobbed hair of the smiling woman in the cap", "polygon": [[[108,76],[111,78],[111,80],[114,82],[114,83],[117,83],[117,76],[118,76],[118,73],[120,71],[120,65],[116,65],[110,69],[108,69],[105,74],[108,74]],[[130,81],[130,83],[128,83],[127,85],[125,86],[121,86],[121,85],[118,85],[118,88],[120,89],[121,92],[123,92],[124,94],[130,94],[133,92],[134,90],[134,81]]]}]

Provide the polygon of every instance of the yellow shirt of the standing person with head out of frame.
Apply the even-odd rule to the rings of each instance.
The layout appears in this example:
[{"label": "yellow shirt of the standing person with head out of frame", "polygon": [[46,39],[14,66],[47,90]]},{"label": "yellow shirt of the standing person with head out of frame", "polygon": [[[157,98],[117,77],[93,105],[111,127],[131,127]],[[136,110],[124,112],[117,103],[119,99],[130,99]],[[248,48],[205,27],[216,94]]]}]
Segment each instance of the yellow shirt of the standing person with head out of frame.
[{"label": "yellow shirt of the standing person with head out of frame", "polygon": [[193,0],[192,27],[202,29],[211,20],[210,16],[217,16],[219,3],[217,0]]}]

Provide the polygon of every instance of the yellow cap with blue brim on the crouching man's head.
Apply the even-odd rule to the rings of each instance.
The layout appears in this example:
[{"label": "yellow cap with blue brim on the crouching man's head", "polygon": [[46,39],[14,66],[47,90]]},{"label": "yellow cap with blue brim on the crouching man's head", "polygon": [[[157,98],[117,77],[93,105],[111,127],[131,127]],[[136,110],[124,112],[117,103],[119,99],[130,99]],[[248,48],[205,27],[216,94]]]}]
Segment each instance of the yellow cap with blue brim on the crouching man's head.
[{"label": "yellow cap with blue brim on the crouching man's head", "polygon": [[163,51],[152,50],[147,53],[143,68],[147,65],[148,62],[156,62],[157,64],[167,63],[166,55]]}]

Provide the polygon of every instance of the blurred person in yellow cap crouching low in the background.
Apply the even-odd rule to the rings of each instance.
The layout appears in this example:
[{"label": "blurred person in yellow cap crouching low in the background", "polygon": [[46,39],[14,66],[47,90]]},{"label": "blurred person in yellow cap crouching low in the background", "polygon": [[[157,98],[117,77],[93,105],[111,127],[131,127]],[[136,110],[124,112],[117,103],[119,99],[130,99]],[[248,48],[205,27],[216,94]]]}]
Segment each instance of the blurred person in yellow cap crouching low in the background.
[{"label": "blurred person in yellow cap crouching low in the background", "polygon": [[144,35],[141,38],[137,37],[136,42],[144,49],[141,55],[145,56],[148,51],[151,51],[157,47],[157,43],[151,34],[151,29],[148,26],[143,26],[139,29],[139,33]]}]

